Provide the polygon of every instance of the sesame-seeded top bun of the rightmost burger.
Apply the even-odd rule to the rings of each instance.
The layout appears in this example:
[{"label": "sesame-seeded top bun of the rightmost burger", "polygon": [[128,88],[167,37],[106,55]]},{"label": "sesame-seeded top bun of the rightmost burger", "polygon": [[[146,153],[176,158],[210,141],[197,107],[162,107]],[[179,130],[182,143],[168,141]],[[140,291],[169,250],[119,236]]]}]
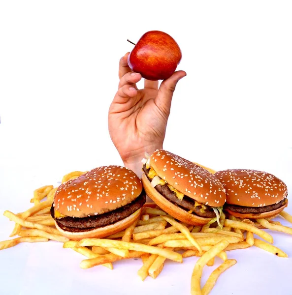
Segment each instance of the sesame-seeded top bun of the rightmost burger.
[{"label": "sesame-seeded top bun of the rightmost burger", "polygon": [[286,184],[272,174],[248,169],[227,169],[215,176],[226,189],[227,204],[244,207],[264,207],[284,200]]}]

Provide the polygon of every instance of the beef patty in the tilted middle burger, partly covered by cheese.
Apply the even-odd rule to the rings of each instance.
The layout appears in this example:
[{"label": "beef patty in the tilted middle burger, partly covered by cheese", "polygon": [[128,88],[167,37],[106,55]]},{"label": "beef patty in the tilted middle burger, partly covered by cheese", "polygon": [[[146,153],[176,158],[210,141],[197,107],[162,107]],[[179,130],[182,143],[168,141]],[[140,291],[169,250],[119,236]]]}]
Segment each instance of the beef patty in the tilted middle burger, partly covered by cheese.
[{"label": "beef patty in the tilted middle burger, partly covered by cheese", "polygon": [[[152,181],[152,179],[148,176],[150,168],[147,169],[145,164],[143,165],[143,171],[144,171],[145,175],[147,176],[147,178],[149,179],[149,181]],[[181,207],[182,209],[185,209],[188,211],[192,210],[193,214],[195,214],[195,215],[205,217],[205,218],[216,217],[214,210],[210,206],[204,205],[204,206],[206,206],[206,209],[202,210],[201,206],[195,207],[195,200],[191,199],[190,197],[188,197],[186,195],[184,195],[182,200],[178,199],[175,192],[173,192],[167,186],[167,184],[163,184],[163,185],[158,184],[155,186],[155,189],[171,203]]]}]

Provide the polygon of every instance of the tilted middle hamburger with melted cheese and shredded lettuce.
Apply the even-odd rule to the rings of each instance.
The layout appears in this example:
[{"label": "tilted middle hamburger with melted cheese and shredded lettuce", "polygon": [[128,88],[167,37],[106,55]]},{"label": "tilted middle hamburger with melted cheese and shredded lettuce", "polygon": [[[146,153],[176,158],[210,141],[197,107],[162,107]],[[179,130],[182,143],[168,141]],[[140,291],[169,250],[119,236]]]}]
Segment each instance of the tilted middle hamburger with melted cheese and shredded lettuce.
[{"label": "tilted middle hamburger with melted cheese and shredded lettuce", "polygon": [[220,224],[226,194],[213,174],[166,150],[142,162],[145,192],[165,212],[191,225]]}]

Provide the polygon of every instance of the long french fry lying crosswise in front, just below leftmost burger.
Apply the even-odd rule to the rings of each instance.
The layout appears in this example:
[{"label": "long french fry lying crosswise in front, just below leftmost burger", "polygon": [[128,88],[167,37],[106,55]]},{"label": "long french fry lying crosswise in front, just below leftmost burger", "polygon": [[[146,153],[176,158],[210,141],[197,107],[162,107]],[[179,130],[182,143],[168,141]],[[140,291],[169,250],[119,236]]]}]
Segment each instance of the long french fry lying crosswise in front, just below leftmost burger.
[{"label": "long french fry lying crosswise in front, just below leftmost burger", "polygon": [[150,254],[157,254],[176,262],[183,261],[181,254],[170,251],[170,250],[161,249],[158,247],[153,247],[153,246],[144,245],[144,244],[101,239],[101,238],[84,238],[81,241],[68,241],[64,243],[63,247],[71,248],[71,247],[80,247],[80,246],[114,247],[119,249],[127,249],[127,250],[141,251],[141,252],[150,253]]}]

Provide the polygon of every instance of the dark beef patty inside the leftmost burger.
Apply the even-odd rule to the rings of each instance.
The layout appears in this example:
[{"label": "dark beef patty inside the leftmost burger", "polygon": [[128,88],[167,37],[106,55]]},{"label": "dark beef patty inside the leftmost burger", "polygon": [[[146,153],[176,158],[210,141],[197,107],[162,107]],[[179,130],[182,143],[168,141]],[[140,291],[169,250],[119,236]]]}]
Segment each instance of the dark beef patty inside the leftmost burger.
[{"label": "dark beef patty inside the leftmost burger", "polygon": [[107,226],[118,222],[141,208],[146,202],[146,194],[144,190],[133,202],[130,204],[115,209],[110,212],[106,212],[100,215],[94,215],[90,217],[62,217],[55,218],[54,207],[51,207],[51,215],[57,222],[58,226],[67,232],[86,232],[103,226]]}]

